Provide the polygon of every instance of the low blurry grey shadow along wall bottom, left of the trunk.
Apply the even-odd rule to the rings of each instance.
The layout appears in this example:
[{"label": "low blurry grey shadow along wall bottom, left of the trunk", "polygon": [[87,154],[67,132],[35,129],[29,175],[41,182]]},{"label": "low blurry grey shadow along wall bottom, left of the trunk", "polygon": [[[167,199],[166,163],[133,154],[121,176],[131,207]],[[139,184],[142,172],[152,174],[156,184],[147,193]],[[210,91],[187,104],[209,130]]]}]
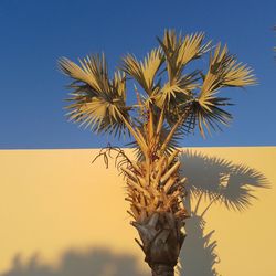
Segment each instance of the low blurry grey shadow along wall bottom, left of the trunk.
[{"label": "low blurry grey shadow along wall bottom, left of the trunk", "polygon": [[105,248],[85,252],[70,250],[62,255],[60,265],[52,267],[40,261],[38,254],[22,263],[21,256],[13,258],[12,267],[1,276],[148,276],[137,266],[129,254],[114,254]]}]

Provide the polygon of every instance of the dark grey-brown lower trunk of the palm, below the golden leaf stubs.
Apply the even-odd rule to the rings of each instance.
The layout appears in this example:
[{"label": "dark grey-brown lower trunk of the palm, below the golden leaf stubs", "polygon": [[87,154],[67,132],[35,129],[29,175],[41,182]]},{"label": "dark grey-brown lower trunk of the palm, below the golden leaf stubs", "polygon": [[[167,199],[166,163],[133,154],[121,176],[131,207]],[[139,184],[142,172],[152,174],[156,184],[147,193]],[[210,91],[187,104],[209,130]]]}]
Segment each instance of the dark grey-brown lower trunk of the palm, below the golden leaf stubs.
[{"label": "dark grey-brown lower trunk of the palm, below the golden leaf stubs", "polygon": [[138,230],[146,258],[152,276],[173,276],[185,235],[181,232],[183,222],[172,213],[153,213],[144,222],[134,222]]}]

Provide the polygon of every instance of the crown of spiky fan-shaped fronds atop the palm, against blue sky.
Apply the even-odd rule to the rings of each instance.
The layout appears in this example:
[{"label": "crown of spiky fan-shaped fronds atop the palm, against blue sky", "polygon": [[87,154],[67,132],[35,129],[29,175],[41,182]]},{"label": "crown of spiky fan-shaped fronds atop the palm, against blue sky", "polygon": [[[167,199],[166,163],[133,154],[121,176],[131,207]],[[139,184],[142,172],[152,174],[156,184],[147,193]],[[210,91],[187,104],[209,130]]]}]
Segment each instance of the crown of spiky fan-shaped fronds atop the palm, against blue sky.
[{"label": "crown of spiky fan-shaped fronds atop the palm, against blue sky", "polygon": [[[215,129],[232,118],[223,106],[230,99],[220,97],[223,87],[244,87],[255,83],[252,70],[231,55],[226,46],[203,44],[204,34],[177,35],[164,31],[142,61],[128,54],[120,68],[110,77],[105,55],[91,55],[79,65],[68,59],[60,60],[61,70],[73,82],[68,118],[95,132],[119,135],[129,131],[141,151],[149,146],[146,125],[151,121],[157,148],[164,150],[170,139],[199,127]],[[185,73],[187,65],[209,53],[209,67]],[[127,106],[126,82],[132,78],[142,88],[138,103]],[[138,93],[137,93],[138,94]],[[134,112],[134,113],[132,113]],[[162,134],[168,139],[161,141]],[[163,135],[164,136],[164,135]]]}]

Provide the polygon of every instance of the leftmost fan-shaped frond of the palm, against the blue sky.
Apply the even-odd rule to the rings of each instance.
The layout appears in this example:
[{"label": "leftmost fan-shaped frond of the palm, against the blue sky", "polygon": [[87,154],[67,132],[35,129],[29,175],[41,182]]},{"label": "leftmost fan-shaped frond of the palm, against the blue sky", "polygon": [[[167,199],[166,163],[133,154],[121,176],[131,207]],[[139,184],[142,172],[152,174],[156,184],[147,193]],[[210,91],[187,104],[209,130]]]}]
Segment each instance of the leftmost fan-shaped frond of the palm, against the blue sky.
[{"label": "leftmost fan-shaped frond of the palm, against the blue sky", "polygon": [[79,65],[68,59],[60,60],[60,68],[73,83],[73,89],[66,106],[68,119],[81,126],[91,127],[95,132],[107,132],[116,136],[125,131],[125,119],[128,118],[126,107],[126,76],[115,72],[109,79],[104,54],[92,55],[79,60]]}]

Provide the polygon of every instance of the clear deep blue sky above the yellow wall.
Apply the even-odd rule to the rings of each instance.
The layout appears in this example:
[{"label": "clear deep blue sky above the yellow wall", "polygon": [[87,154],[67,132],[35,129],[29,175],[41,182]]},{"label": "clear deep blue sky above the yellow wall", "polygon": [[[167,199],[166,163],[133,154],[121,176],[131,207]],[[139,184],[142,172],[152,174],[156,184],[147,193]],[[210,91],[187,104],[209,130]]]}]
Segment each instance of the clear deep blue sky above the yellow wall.
[{"label": "clear deep blue sky above the yellow wall", "polygon": [[0,149],[106,146],[105,137],[66,121],[68,79],[56,60],[104,51],[114,67],[127,52],[142,56],[166,28],[226,42],[259,82],[231,91],[230,128],[205,140],[191,136],[182,146],[275,146],[275,24],[274,0],[1,0]]}]

